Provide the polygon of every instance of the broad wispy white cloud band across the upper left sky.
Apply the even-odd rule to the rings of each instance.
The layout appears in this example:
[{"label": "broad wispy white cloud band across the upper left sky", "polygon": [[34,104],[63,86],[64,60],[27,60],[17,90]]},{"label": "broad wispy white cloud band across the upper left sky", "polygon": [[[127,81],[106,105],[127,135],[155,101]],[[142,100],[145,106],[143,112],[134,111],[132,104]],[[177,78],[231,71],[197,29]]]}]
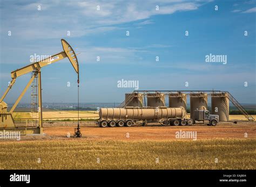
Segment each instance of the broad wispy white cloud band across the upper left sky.
[{"label": "broad wispy white cloud band across the upper left sky", "polygon": [[[179,11],[196,10],[205,1],[33,1],[25,3],[3,2],[1,34],[12,31],[22,39],[53,39],[109,32],[120,29],[118,24],[144,20],[138,26],[152,24],[154,15],[166,15]],[[41,5],[41,10],[37,6]],[[99,10],[97,10],[97,5]],[[156,10],[156,5],[159,10]]]}]

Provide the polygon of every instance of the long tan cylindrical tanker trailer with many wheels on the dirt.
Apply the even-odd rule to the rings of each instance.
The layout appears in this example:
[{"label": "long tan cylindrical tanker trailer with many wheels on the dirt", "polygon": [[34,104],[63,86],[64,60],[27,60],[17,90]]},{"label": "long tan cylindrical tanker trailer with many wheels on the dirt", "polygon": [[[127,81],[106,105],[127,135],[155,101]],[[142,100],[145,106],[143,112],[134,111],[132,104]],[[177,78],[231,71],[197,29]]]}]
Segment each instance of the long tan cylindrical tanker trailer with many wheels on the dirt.
[{"label": "long tan cylindrical tanker trailer with many wheels on the dirt", "polygon": [[185,119],[186,112],[182,107],[125,107],[125,108],[101,108],[99,110],[100,127],[130,127],[140,123],[160,123],[162,125],[192,125],[192,119]]}]

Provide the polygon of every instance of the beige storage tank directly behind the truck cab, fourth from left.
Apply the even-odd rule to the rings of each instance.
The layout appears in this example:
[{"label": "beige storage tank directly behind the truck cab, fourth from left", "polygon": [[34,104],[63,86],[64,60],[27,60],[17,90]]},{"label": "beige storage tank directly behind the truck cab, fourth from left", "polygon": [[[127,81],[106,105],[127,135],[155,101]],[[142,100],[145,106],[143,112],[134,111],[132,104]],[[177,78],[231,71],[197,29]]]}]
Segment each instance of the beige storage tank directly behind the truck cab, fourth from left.
[{"label": "beige storage tank directly behind the truck cab, fourth from left", "polygon": [[190,93],[190,118],[194,110],[208,110],[207,93]]}]

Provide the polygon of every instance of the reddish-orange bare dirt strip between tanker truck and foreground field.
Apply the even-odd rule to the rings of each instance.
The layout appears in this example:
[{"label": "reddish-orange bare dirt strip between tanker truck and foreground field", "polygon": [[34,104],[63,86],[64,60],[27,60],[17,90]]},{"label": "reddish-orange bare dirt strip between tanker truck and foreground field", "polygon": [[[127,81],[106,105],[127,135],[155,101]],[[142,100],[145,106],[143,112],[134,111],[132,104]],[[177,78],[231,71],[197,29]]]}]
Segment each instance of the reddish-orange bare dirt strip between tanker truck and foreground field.
[{"label": "reddish-orange bare dirt strip between tanker truck and foreground field", "polygon": [[[74,132],[73,127],[45,127],[46,136],[56,136],[64,138],[68,133]],[[216,139],[216,138],[256,138],[256,123],[241,122],[238,124],[225,123],[217,126],[207,126],[203,124],[193,126],[161,126],[148,125],[145,127],[97,127],[86,125],[81,128],[83,137],[90,139],[110,139],[110,140],[170,140],[176,139],[177,132],[196,132],[197,139]]]}]

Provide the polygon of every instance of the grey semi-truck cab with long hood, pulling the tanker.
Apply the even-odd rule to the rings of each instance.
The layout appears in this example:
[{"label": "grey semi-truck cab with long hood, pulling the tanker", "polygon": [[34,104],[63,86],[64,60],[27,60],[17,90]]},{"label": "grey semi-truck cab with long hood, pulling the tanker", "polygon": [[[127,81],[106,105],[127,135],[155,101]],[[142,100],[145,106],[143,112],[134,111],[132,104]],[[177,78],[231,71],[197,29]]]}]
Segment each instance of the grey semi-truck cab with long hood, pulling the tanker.
[{"label": "grey semi-truck cab with long hood, pulling the tanker", "polygon": [[194,123],[196,121],[208,121],[208,126],[216,126],[219,122],[219,115],[210,114],[208,110],[194,110],[192,119]]}]

